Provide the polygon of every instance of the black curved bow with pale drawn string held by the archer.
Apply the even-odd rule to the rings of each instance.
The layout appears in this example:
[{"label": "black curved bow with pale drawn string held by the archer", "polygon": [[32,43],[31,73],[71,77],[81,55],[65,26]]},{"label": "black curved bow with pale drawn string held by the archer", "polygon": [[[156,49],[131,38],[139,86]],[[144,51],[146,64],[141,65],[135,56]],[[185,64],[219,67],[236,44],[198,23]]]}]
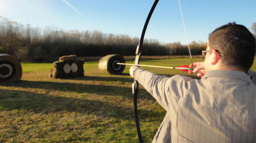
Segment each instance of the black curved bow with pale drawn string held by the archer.
[{"label": "black curved bow with pale drawn string held by the archer", "polygon": [[[147,28],[148,22],[150,22],[150,18],[152,16],[152,14],[153,14],[153,12],[154,12],[158,2],[159,2],[159,0],[155,0],[154,4],[153,4],[153,6],[152,6],[152,8],[150,10],[150,13],[148,13],[148,16],[146,18],[146,21],[145,21],[145,24],[144,24],[144,27],[143,27],[143,30],[142,30],[142,33],[141,33],[140,42],[139,42],[139,45],[137,46],[137,49],[136,49],[136,58],[135,58],[135,61],[134,61],[135,65],[139,66],[140,55],[141,55],[141,51],[143,49],[143,40],[144,40],[144,36],[145,36],[145,33],[146,33],[146,28]],[[180,1],[179,1],[179,5],[180,5]],[[181,7],[180,7],[180,10],[181,10]],[[182,11],[181,11],[181,16],[182,16]],[[182,16],[182,21],[183,21],[183,25],[184,25],[184,29],[185,29],[185,24],[184,24],[183,16]],[[186,29],[185,29],[185,33],[186,33]],[[186,39],[187,39],[187,34],[186,34]],[[187,40],[187,45],[188,45],[188,49],[189,49],[190,59],[191,59],[192,65],[193,65],[193,61],[192,61],[192,56],[191,56],[191,53],[190,53],[190,47],[189,47],[189,44],[188,44],[188,40]],[[188,66],[186,68],[188,68]],[[192,69],[186,69],[186,70],[193,70],[193,68]],[[142,143],[143,139],[142,139],[141,132],[140,132],[138,109],[137,109],[137,96],[138,96],[138,93],[139,93],[139,82],[136,79],[134,79],[132,88],[133,88],[133,94],[134,94],[135,123],[136,123],[136,128],[137,128],[137,133],[138,133],[139,141],[140,141],[140,143]]]}]

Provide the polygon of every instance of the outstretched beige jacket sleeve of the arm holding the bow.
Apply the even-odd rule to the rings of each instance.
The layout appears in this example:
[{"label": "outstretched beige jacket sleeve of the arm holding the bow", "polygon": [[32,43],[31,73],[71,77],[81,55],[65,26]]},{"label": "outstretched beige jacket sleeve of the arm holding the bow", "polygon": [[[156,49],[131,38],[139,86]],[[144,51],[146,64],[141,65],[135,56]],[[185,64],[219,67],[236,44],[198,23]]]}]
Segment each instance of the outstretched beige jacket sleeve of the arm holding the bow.
[{"label": "outstretched beige jacket sleeve of the arm holding the bow", "polygon": [[184,78],[192,80],[190,77],[180,75],[169,78],[142,69],[138,69],[135,72],[135,79],[142,84],[146,91],[149,92],[166,111],[168,111],[169,103],[172,103],[170,102],[170,96],[172,96],[173,99],[177,99],[175,101],[178,102],[181,95],[180,93],[184,92],[182,91],[182,83],[185,81]]}]

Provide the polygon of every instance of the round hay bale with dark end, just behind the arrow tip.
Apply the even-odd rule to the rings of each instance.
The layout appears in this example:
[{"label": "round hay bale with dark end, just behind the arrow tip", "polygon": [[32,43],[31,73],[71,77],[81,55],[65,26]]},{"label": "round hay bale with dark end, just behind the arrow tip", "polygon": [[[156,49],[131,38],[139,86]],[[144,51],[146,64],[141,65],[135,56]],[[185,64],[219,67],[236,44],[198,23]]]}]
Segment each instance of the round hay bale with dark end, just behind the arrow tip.
[{"label": "round hay bale with dark end, just behind the arrow tip", "polygon": [[125,63],[123,56],[120,54],[106,55],[99,60],[98,68],[104,73],[121,74],[125,65],[117,65],[116,63]]}]

